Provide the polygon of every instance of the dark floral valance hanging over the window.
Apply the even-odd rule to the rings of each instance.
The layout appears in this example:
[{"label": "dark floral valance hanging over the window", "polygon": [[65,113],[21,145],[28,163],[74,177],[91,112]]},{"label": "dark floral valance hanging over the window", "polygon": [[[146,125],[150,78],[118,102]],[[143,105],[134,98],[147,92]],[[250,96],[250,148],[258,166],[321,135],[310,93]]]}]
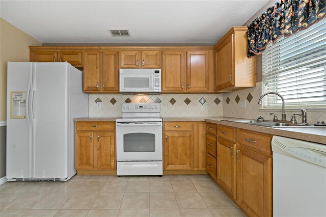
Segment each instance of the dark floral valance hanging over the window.
[{"label": "dark floral valance hanging over the window", "polygon": [[325,0],[282,0],[248,25],[248,57],[261,54],[269,42],[305,30],[325,16]]}]

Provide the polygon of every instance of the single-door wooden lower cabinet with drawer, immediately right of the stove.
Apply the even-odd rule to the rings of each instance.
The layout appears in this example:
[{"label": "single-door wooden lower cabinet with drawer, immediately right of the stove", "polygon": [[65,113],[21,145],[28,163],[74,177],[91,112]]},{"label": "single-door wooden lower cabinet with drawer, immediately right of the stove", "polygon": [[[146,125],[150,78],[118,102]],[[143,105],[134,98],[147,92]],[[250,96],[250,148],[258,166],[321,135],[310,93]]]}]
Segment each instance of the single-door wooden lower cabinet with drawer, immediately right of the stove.
[{"label": "single-door wooden lower cabinet with drawer, immediately right of the stove", "polygon": [[205,122],[164,122],[165,171],[206,171]]}]

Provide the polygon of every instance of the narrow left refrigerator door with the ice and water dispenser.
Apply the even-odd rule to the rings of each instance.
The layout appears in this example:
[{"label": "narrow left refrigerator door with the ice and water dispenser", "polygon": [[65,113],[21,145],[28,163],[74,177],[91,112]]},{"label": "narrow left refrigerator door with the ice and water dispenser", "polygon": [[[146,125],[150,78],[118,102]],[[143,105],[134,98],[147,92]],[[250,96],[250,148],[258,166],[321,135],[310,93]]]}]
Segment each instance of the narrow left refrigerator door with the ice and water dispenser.
[{"label": "narrow left refrigerator door with the ice and water dispenser", "polygon": [[[32,129],[28,102],[32,63],[8,63],[7,75],[7,179],[32,177]],[[11,92],[26,92],[24,119],[12,119]]]}]

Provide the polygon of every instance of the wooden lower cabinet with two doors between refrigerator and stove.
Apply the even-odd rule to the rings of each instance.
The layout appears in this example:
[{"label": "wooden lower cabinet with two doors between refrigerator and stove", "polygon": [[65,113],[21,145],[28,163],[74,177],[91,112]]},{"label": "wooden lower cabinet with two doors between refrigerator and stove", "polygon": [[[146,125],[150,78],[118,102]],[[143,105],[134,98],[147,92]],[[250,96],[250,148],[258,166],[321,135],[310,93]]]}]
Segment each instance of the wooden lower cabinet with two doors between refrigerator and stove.
[{"label": "wooden lower cabinet with two doors between refrigerator and stove", "polygon": [[75,126],[75,168],[77,172],[115,171],[115,122],[83,121],[76,122]]}]

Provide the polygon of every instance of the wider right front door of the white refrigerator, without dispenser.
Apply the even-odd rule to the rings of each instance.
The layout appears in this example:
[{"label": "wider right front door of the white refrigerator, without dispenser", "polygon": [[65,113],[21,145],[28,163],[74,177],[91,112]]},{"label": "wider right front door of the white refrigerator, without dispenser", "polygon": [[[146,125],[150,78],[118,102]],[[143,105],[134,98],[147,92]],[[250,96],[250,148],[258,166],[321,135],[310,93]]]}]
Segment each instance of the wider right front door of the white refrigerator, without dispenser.
[{"label": "wider right front door of the white refrigerator, without dispenser", "polygon": [[68,177],[68,63],[33,63],[33,177]]}]

